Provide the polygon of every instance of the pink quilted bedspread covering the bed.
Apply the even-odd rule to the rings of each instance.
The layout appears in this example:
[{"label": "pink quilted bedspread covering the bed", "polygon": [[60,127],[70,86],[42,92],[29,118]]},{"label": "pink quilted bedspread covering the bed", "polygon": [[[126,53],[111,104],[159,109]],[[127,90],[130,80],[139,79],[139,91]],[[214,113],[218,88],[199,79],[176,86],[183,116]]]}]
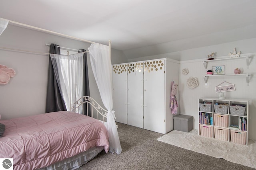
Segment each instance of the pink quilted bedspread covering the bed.
[{"label": "pink quilted bedspread covering the bed", "polygon": [[105,125],[79,113],[58,111],[0,123],[6,125],[0,158],[13,158],[16,170],[43,168],[91,147],[109,148]]}]

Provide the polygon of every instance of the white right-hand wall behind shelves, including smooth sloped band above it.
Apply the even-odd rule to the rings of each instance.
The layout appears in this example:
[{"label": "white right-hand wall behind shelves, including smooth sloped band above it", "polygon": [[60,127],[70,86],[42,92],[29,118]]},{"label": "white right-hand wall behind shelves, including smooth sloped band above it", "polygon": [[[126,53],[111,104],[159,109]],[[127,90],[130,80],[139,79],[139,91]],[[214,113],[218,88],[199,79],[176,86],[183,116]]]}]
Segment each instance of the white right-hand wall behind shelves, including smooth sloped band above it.
[{"label": "white right-hand wall behind shelves, including smooth sloped band above it", "polygon": [[[164,57],[171,59],[187,59],[188,56],[190,56],[191,59],[193,58],[194,60],[180,61],[180,78],[178,84],[180,113],[192,115],[194,117],[194,129],[198,129],[198,98],[218,98],[218,93],[215,93],[215,86],[226,80],[227,82],[235,84],[236,88],[236,91],[225,92],[226,98],[250,100],[249,138],[256,140],[256,131],[254,130],[256,129],[256,123],[254,123],[256,121],[256,53],[251,53],[251,51],[256,52],[255,45],[256,39],[248,39],[197,49],[190,49],[186,51],[167,53],[163,55],[146,56],[129,60],[129,62],[160,59]],[[254,56],[250,60],[250,68],[247,68],[246,60],[238,59],[232,61],[212,62],[208,64],[208,69],[211,69],[212,66],[225,65],[226,74],[234,74],[234,68],[240,68],[242,73],[252,73],[252,76],[250,76],[249,86],[246,84],[246,79],[240,76],[211,77],[208,79],[207,86],[205,86],[203,76],[206,74],[206,70],[202,64],[202,61],[206,60],[207,55],[211,52],[215,52],[217,54],[217,58],[229,58],[228,53],[232,52],[234,47],[236,47],[237,51],[242,52],[241,56]],[[189,70],[189,73],[186,76],[181,72],[183,68],[188,68]],[[194,89],[189,89],[186,86],[186,80],[189,77],[198,78],[199,86]]]}]

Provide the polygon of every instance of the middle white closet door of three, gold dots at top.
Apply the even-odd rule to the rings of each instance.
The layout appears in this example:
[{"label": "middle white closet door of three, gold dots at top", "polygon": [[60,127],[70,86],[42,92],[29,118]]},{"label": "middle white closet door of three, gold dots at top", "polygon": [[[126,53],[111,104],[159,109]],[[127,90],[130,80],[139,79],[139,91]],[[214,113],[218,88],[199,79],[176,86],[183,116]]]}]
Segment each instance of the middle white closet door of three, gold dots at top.
[{"label": "middle white closet door of three, gold dots at top", "polygon": [[127,124],[143,128],[143,63],[130,63],[127,70]]}]

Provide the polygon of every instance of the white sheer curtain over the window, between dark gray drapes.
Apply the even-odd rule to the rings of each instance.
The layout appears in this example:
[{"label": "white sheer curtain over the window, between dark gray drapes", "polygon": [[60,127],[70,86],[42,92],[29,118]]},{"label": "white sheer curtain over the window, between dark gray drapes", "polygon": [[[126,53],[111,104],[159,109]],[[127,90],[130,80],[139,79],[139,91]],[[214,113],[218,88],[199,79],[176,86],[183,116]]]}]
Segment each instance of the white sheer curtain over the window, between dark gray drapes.
[{"label": "white sheer curtain over the window, between dark gray drapes", "polygon": [[71,104],[83,96],[83,53],[73,55],[51,54],[54,73],[68,111],[78,111]]}]

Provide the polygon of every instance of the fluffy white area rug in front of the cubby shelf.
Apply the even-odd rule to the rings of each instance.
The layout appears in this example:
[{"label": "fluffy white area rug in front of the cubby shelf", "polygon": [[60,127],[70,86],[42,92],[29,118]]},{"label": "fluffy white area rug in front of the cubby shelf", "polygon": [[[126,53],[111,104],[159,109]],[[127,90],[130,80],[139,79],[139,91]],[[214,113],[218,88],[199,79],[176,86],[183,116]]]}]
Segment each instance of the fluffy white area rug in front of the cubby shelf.
[{"label": "fluffy white area rug in front of the cubby shelf", "polygon": [[256,168],[256,143],[251,140],[249,140],[248,146],[219,141],[202,137],[194,129],[189,133],[174,130],[159,137],[157,140],[215,158],[223,158],[236,164]]}]

